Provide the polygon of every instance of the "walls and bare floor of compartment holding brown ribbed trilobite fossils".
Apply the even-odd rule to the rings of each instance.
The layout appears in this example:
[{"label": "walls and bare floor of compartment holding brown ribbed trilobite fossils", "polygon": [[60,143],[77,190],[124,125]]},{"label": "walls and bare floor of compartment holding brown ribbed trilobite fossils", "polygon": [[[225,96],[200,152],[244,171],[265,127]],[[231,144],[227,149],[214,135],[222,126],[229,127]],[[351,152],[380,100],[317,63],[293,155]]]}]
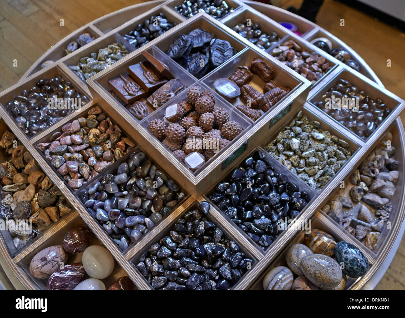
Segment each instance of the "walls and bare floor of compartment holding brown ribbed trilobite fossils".
[{"label": "walls and bare floor of compartment holding brown ribbed trilobite fossils", "polygon": [[[273,81],[275,81],[280,85],[290,87],[291,89],[290,92],[293,92],[294,90],[302,86],[302,82],[299,79],[296,79],[295,77],[287,73],[280,66],[278,66],[277,63],[273,62],[273,60],[265,58],[263,55],[254,51],[251,48],[247,48],[244,51],[238,53],[233,58],[222,64],[217,70],[203,77],[201,81],[205,83],[205,85],[207,85],[208,87],[213,88],[213,83],[218,78],[219,74],[221,77],[229,78],[230,75],[232,75],[234,70],[237,68],[237,66],[249,66],[249,64],[255,58],[261,58],[264,62],[266,62],[275,72],[275,78],[273,79]],[[258,92],[260,93],[263,93],[263,88],[265,84],[266,82],[262,81],[262,79],[260,79],[258,75],[253,75],[252,81],[249,82],[249,85],[258,90]],[[288,92],[287,95],[290,94],[290,92]],[[277,105],[279,105],[280,102],[283,102],[286,99],[286,96],[281,98],[281,100],[279,100],[275,105],[273,105],[271,109],[269,109],[268,111],[263,112],[262,110],[260,110],[261,116],[256,121],[260,120],[266,113],[277,107]],[[236,98],[236,100],[230,103],[233,106],[245,104],[240,97]],[[236,107],[234,107],[234,109],[236,109]]]}]

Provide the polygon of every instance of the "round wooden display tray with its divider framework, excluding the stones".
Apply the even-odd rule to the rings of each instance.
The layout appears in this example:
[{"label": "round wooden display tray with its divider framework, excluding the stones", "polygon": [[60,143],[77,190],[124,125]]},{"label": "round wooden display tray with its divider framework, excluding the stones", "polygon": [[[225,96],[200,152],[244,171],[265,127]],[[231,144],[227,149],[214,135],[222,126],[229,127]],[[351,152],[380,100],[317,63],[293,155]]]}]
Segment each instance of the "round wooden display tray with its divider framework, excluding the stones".
[{"label": "round wooden display tray with its divider framework, excluding the stones", "polygon": [[[9,129],[15,134],[19,141],[21,141],[36,159],[44,173],[60,188],[60,190],[62,190],[66,199],[77,210],[77,212],[71,212],[61,218],[58,222],[45,230],[40,237],[30,242],[30,244],[19,251],[12,252],[9,246],[7,246],[9,242],[7,242],[2,235],[0,239],[0,252],[4,257],[6,264],[10,267],[11,271],[24,288],[46,289],[46,282],[34,279],[30,274],[29,264],[32,257],[43,248],[52,245],[60,245],[64,233],[66,233],[66,230],[71,226],[87,224],[98,238],[98,240],[95,239],[93,243],[105,246],[115,258],[115,269],[113,273],[111,276],[107,277],[106,280],[103,280],[106,287],[108,288],[117,277],[128,275],[137,288],[152,289],[151,285],[145,280],[136,267],[134,267],[134,265],[136,265],[136,260],[138,260],[141,253],[145,252],[153,243],[159,241],[160,238],[167,235],[174,222],[181,217],[183,213],[189,209],[197,207],[198,203],[201,201],[208,201],[208,196],[212,193],[215,185],[219,181],[226,179],[229,172],[237,167],[243,158],[246,158],[257,149],[263,150],[261,147],[264,147],[269,141],[274,139],[277,132],[286,126],[295,117],[299,110],[304,110],[310,120],[313,119],[320,121],[326,129],[347,141],[353,149],[356,149],[356,152],[354,152],[352,157],[347,160],[346,164],[335,174],[326,186],[324,186],[322,191],[313,193],[310,203],[305,209],[303,209],[303,211],[301,211],[294,222],[301,223],[306,220],[311,220],[312,228],[326,230],[326,232],[330,233],[337,241],[347,241],[358,246],[358,248],[360,248],[360,250],[362,250],[367,256],[370,268],[364,276],[359,277],[358,279],[349,279],[347,281],[346,289],[362,288],[377,270],[381,271],[380,266],[383,262],[383,267],[388,267],[389,262],[387,265],[387,260],[393,257],[393,254],[398,248],[398,238],[402,237],[404,233],[403,220],[405,215],[405,194],[404,192],[399,191],[399,189],[403,189],[405,186],[405,179],[403,178],[403,172],[405,171],[403,160],[405,132],[398,115],[405,107],[405,102],[384,88],[373,70],[371,70],[360,55],[358,55],[353,49],[347,47],[345,43],[333,36],[333,34],[330,34],[328,31],[306,19],[303,19],[302,17],[277,7],[254,1],[240,2],[239,0],[229,0],[227,2],[230,6],[233,6],[236,9],[234,12],[226,15],[219,21],[205,13],[199,13],[198,15],[186,20],[183,16],[179,15],[172,9],[173,6],[181,2],[181,0],[156,0],[143,4],[136,4],[110,13],[86,24],[53,45],[31,66],[16,85],[13,85],[11,88],[0,94],[0,132],[3,133],[6,129]],[[160,11],[164,12],[166,16],[172,19],[172,21],[175,21],[177,26],[155,40],[147,43],[147,45],[142,48],[132,51],[121,60],[115,62],[111,67],[102,70],[86,82],[81,81],[81,79],[79,79],[75,73],[68,68],[68,65],[77,64],[81,57],[97,51],[99,48],[105,47],[110,43],[118,41],[117,38],[119,38],[119,36],[133,30],[134,26],[140,21],[143,21],[145,18]],[[301,47],[311,51],[316,51],[320,55],[324,55],[330,66],[333,67],[317,83],[311,85],[311,82],[307,81],[287,66],[279,63],[271,56],[271,54],[269,54],[270,49],[274,46],[266,51],[261,51],[255,45],[231,30],[232,26],[243,21],[247,17],[252,17],[252,20],[256,19],[257,23],[260,23],[263,30],[276,31],[280,37],[277,44],[292,39]],[[123,21],[127,22],[122,23]],[[297,36],[283,28],[278,23],[279,21],[290,21],[295,23],[298,30],[302,33],[302,36]],[[185,74],[187,72],[180,70],[174,62],[171,62],[167,56],[167,60],[164,60],[165,57],[162,51],[168,47],[175,35],[183,32],[190,32],[194,28],[203,28],[204,30],[208,30],[215,34],[220,33],[222,38],[228,40],[231,45],[239,51],[239,53],[232,58],[232,62],[235,64],[245,65],[248,62],[251,62],[254,57],[260,56],[266,60],[275,71],[277,71],[277,78],[281,78],[284,83],[292,88],[292,91],[285,96],[285,98],[262,115],[262,117],[256,122],[252,122],[246,117],[243,134],[241,134],[241,136],[234,142],[232,141],[232,144],[221,151],[220,154],[217,154],[212,160],[209,160],[209,162],[197,171],[197,173],[190,172],[181,162],[175,160],[174,157],[172,158],[171,153],[168,152],[168,150],[157,139],[155,140],[151,138],[151,135],[149,135],[148,131],[145,129],[147,119],[152,118],[154,113],[161,113],[162,109],[167,107],[167,104],[161,107],[162,109],[152,113],[150,117],[138,121],[109,94],[107,84],[107,81],[112,77],[125,73],[129,65],[139,62],[142,57],[142,51],[147,51],[155,56],[159,55],[162,61],[166,64],[173,66],[173,68],[178,68],[178,70],[176,70],[177,73],[175,74],[177,78],[179,78],[179,76],[184,76],[184,78],[190,77],[190,75]],[[95,36],[96,39],[77,51],[66,55],[64,50],[67,44],[75,40],[84,32],[90,33],[92,36]],[[360,72],[349,68],[339,60],[336,60],[332,56],[325,54],[325,52],[313,46],[310,41],[313,38],[318,37],[329,38],[334,47],[345,47],[349,49],[352,59],[360,64]],[[52,60],[53,63],[45,69],[42,69],[41,64],[48,60]],[[212,79],[229,76],[233,70],[229,73],[226,64],[227,62],[224,63],[224,66],[220,66],[216,70],[213,70],[213,72],[205,75],[205,77],[200,80],[190,77],[190,84],[188,85],[190,86],[192,83],[196,82],[198,85],[206,85],[209,87],[212,83]],[[233,64],[234,67],[235,64]],[[94,105],[98,105],[117,123],[117,125],[120,126],[122,131],[128,137],[131,137],[133,141],[135,141],[138,145],[137,147],[143,149],[149,158],[151,158],[157,166],[160,166],[162,171],[170,171],[170,173],[167,174],[179,184],[180,188],[183,189],[186,194],[188,194],[185,200],[183,200],[168,216],[166,216],[160,223],[156,224],[156,226],[154,226],[147,235],[144,235],[140,241],[130,245],[128,250],[124,253],[122,253],[116,243],[107,235],[97,220],[90,215],[75,192],[70,191],[68,185],[62,181],[60,175],[50,166],[45,157],[36,147],[37,143],[49,140],[50,135],[53,132],[60,130],[64,124],[81,116],[77,113],[72,113],[44,132],[28,139],[15,124],[13,118],[6,113],[3,107],[3,105],[5,105],[8,100],[12,99],[13,96],[19,95],[21,89],[32,87],[39,78],[52,77],[55,74],[62,74],[64,78],[66,77],[70,79],[75,88],[81,90],[92,99],[80,109],[80,114],[86,112]],[[322,96],[322,94],[341,77],[348,79],[356,86],[366,90],[371,96],[382,96],[381,98],[392,109],[390,115],[388,115],[384,122],[377,127],[367,141],[358,138],[353,132],[325,115],[320,109],[312,104],[312,101],[316,100],[316,97]],[[176,100],[176,97],[173,100]],[[232,105],[229,103],[227,104],[224,102],[224,106],[221,107],[231,109],[231,106]],[[243,119],[241,113],[239,114],[238,112],[235,112],[233,115],[238,115]],[[399,166],[399,179],[396,183],[397,192],[396,196],[392,199],[392,204],[394,206],[390,216],[392,228],[389,230],[384,229],[377,247],[374,251],[371,251],[357,241],[357,239],[344,231],[328,215],[319,211],[319,209],[336,194],[341,180],[344,181],[349,179],[351,172],[358,168],[362,160],[367,158],[367,155],[372,149],[374,149],[374,147],[382,140],[384,134],[389,131],[393,136],[392,145],[396,149],[396,156],[401,159]],[[238,154],[234,155],[237,152]],[[230,158],[233,158],[233,160],[230,160]],[[296,179],[298,179],[292,173],[289,173],[284,167],[280,166],[279,169],[281,172],[286,173],[290,180],[296,181]],[[283,171],[283,169],[285,171]],[[252,239],[245,235],[240,228],[230,222],[224,213],[213,204],[211,204],[211,209],[209,211],[209,219],[216,223],[226,236],[232,237],[237,241],[241,250],[255,260],[252,269],[243,275],[233,289],[262,289],[262,279],[265,273],[274,266],[283,265],[286,247],[292,243],[303,241],[302,232],[296,231],[294,228],[288,228],[277,238],[270,248],[263,252],[257,247],[257,245],[255,245]],[[396,243],[394,244],[395,241]],[[80,260],[81,256],[69,258],[69,263]],[[371,286],[366,286],[367,288],[373,288],[377,282],[373,281]]]}]

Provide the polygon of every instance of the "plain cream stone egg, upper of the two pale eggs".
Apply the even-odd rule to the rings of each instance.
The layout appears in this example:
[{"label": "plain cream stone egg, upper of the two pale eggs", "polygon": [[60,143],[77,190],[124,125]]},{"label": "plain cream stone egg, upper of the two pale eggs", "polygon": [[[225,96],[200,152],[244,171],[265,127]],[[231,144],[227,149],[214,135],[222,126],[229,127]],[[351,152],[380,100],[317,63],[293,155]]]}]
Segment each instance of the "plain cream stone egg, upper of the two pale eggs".
[{"label": "plain cream stone egg, upper of the two pale eggs", "polygon": [[102,246],[92,245],[86,248],[82,260],[86,273],[92,278],[102,280],[113,272],[114,258]]}]

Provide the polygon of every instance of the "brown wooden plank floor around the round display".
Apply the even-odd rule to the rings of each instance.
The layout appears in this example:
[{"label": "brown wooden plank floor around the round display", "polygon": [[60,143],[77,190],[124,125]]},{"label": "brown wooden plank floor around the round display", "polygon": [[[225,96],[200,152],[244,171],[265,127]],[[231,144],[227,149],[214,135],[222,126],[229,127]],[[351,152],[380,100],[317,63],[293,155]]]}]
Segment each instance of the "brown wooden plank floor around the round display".
[{"label": "brown wooden plank floor around the round display", "polygon": [[[0,91],[17,83],[51,45],[84,24],[142,0],[0,0]],[[302,0],[273,0],[287,8]],[[59,25],[64,19],[64,26]],[[345,19],[345,26],[340,26]],[[124,21],[123,21],[124,22]],[[386,88],[405,99],[405,34],[349,6],[325,0],[317,23],[371,66]],[[17,59],[17,67],[13,60]],[[387,66],[387,60],[392,67]],[[401,115],[405,122],[405,112]],[[376,289],[405,289],[405,240]]]}]

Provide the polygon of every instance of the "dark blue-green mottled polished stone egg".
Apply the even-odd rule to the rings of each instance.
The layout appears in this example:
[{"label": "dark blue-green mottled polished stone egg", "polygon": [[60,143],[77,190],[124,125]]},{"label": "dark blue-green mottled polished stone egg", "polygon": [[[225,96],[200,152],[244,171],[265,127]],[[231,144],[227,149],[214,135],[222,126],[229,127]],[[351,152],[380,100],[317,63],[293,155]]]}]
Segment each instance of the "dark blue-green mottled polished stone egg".
[{"label": "dark blue-green mottled polished stone egg", "polygon": [[347,242],[339,242],[335,248],[336,259],[344,263],[343,273],[350,277],[360,277],[369,269],[369,261],[359,248]]}]

